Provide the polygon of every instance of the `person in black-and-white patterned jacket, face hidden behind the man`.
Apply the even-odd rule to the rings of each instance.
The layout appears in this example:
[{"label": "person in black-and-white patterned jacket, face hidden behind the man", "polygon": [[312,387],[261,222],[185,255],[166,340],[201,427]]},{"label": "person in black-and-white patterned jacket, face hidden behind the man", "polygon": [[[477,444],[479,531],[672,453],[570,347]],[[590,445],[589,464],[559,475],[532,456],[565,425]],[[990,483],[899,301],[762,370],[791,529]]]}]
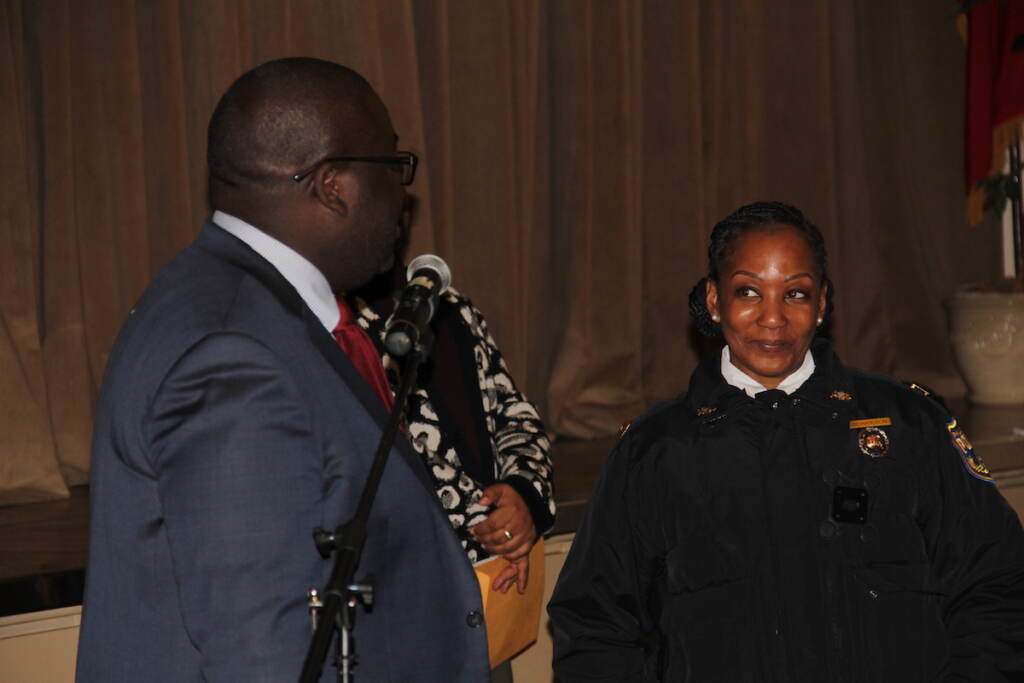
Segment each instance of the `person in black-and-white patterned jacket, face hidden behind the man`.
[{"label": "person in black-and-white patterned jacket, face hidden behind the man", "polygon": [[[384,348],[396,266],[356,293],[357,321],[378,347],[392,390],[398,361]],[[537,409],[516,388],[483,314],[455,289],[441,295],[434,344],[406,407],[409,437],[423,456],[437,497],[471,562],[509,561],[495,588],[526,588],[527,555],[554,523],[550,442]]]}]

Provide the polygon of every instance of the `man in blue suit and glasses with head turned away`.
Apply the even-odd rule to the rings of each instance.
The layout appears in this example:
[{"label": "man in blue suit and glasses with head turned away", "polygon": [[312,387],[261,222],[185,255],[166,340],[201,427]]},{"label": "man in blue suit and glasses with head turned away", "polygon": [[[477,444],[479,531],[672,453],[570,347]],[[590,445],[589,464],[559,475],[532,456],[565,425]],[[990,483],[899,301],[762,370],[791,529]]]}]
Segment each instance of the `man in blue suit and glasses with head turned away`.
[{"label": "man in blue suit and glasses with head turned away", "polygon": [[[258,67],[218,104],[215,212],[131,310],[103,381],[80,682],[298,679],[306,591],[332,567],[310,532],[351,516],[386,418],[331,332],[335,297],[390,266],[415,171],[396,139],[370,85],[316,59]],[[357,680],[487,680],[476,579],[402,436],[368,573]]]}]

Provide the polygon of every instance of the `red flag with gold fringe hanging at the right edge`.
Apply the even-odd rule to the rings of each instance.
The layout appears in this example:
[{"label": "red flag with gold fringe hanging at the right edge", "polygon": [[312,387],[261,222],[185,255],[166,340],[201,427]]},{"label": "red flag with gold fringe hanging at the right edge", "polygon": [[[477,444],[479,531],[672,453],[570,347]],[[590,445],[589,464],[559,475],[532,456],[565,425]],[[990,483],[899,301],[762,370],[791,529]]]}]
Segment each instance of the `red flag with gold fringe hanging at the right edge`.
[{"label": "red flag with gold fringe hanging at the right edge", "polygon": [[1002,173],[1024,121],[1024,0],[961,0],[967,15],[968,221],[981,222],[978,181]]}]

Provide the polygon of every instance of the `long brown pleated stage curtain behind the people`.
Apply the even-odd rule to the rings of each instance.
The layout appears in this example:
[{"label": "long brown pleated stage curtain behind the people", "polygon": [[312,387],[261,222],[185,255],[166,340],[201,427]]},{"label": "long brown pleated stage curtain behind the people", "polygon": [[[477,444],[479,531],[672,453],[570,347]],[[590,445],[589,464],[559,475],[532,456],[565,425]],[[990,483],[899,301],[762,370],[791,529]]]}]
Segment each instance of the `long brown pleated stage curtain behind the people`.
[{"label": "long brown pleated stage curtain behind the people", "polygon": [[962,390],[942,302],[996,272],[997,236],[964,226],[953,11],[0,0],[0,504],[87,480],[117,331],[208,213],[216,99],[286,55],[375,84],[424,161],[412,253],[449,261],[559,434],[685,388],[708,234],[760,199],[821,225],[849,362]]}]

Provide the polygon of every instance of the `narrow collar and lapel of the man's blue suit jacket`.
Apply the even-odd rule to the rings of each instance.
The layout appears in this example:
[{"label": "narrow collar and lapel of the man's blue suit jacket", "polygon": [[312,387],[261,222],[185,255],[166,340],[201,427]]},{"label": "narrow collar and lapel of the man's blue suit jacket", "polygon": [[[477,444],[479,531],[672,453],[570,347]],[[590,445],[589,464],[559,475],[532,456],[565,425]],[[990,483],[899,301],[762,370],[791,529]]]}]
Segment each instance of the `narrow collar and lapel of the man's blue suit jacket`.
[{"label": "narrow collar and lapel of the man's blue suit jacket", "polygon": [[[309,336],[313,346],[331,364],[331,367],[334,368],[348,389],[359,399],[359,402],[367,409],[367,412],[373,417],[374,422],[377,423],[381,431],[384,430],[387,424],[388,413],[384,409],[380,397],[374,393],[374,390],[362,379],[359,371],[355,369],[352,361],[339,348],[331,333],[324,329],[319,318],[309,310],[309,306],[305,304],[291,283],[285,280],[285,276],[269,261],[253,251],[249,245],[211,221],[207,221],[203,225],[203,230],[200,232],[199,238],[197,238],[196,244],[201,249],[209,251],[229,263],[233,263],[250,273],[262,283],[288,311],[302,317],[302,322],[306,326],[306,334]],[[431,493],[431,496],[436,496],[434,484],[427,475],[423,460],[413,449],[409,439],[398,434],[394,439],[394,447],[409,463],[410,468]]]}]

